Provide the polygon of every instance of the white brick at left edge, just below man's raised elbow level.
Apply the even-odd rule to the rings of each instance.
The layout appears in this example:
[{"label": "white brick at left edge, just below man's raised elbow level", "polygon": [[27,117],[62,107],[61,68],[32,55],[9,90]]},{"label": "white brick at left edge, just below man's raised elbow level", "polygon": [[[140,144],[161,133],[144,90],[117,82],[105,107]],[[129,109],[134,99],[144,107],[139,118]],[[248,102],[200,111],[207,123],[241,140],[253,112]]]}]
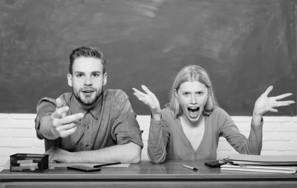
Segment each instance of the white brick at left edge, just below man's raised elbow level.
[{"label": "white brick at left edge, just below man's raised elbow level", "polygon": [[[36,138],[37,139],[37,138]],[[0,147],[32,147],[33,138],[0,138]]]}]

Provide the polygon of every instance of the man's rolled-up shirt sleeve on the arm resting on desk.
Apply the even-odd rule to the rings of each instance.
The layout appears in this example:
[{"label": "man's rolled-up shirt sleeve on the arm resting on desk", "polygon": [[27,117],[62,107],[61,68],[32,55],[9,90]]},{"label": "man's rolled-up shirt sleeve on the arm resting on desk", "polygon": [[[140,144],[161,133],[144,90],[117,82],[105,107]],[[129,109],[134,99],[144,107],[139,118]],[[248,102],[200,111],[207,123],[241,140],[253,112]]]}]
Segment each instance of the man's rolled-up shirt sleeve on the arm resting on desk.
[{"label": "man's rolled-up shirt sleeve on the arm resting on desk", "polygon": [[116,119],[112,125],[111,135],[117,144],[128,144],[133,142],[144,147],[139,123],[136,120],[136,113],[133,112],[128,96],[121,91],[115,97]]}]

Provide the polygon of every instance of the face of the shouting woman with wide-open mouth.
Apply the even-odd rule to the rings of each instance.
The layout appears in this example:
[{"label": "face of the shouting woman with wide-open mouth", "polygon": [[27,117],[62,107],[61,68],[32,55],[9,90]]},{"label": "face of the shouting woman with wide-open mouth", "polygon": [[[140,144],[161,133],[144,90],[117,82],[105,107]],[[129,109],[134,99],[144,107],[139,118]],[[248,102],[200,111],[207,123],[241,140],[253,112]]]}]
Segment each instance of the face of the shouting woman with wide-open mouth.
[{"label": "face of the shouting woman with wide-open mouth", "polygon": [[175,92],[183,109],[183,116],[190,122],[197,122],[208,99],[208,88],[198,81],[187,81]]}]

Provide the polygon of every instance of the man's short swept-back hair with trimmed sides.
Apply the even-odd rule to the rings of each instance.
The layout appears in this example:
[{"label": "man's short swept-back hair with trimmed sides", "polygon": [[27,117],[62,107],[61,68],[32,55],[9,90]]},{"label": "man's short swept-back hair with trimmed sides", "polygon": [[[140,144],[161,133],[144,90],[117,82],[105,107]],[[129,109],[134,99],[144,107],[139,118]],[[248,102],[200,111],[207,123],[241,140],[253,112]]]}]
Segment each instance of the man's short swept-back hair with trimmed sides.
[{"label": "man's short swept-back hair with trimmed sides", "polygon": [[73,62],[79,57],[93,57],[101,60],[101,63],[103,65],[103,74],[105,74],[106,59],[103,58],[102,51],[95,47],[82,46],[73,50],[69,55],[69,73],[71,75],[72,75]]}]

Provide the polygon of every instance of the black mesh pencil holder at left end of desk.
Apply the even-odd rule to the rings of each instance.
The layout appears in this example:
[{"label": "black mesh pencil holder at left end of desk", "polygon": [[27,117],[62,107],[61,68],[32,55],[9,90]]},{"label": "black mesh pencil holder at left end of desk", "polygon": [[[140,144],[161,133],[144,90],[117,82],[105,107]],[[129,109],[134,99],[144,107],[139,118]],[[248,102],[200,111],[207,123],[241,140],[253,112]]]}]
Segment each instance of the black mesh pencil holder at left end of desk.
[{"label": "black mesh pencil holder at left end of desk", "polygon": [[16,153],[10,155],[11,172],[45,172],[49,170],[49,155]]}]

